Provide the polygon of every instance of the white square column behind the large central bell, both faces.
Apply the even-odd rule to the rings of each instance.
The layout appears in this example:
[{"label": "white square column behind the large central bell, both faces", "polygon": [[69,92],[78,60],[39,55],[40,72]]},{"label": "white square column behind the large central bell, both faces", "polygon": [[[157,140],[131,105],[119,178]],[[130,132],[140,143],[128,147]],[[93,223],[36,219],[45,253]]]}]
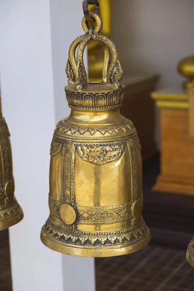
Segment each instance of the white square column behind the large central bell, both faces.
[{"label": "white square column behind the large central bell, both faces", "polygon": [[0,1],[2,112],[24,211],[23,221],[10,228],[13,291],[95,290],[94,259],[51,251],[39,238],[49,215],[50,142],[56,122],[69,113],[67,50],[82,33],[81,18],[80,0]]}]

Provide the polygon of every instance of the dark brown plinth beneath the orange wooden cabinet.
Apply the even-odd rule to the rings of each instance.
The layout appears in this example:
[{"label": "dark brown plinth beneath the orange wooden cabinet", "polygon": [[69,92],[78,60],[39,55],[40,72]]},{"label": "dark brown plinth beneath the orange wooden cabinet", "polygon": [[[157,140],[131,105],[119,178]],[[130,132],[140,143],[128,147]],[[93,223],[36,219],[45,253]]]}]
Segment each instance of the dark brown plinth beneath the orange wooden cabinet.
[{"label": "dark brown plinth beneath the orange wooden cabinet", "polygon": [[160,156],[143,162],[143,215],[151,243],[186,249],[194,236],[194,196],[152,191],[160,173]]}]

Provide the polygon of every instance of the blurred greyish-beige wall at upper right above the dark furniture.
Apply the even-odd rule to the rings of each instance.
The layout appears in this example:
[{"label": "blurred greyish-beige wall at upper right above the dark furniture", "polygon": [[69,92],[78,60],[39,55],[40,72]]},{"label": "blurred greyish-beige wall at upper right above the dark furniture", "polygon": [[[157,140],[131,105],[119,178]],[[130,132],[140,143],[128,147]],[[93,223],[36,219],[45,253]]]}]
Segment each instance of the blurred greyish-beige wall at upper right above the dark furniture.
[{"label": "blurred greyish-beige wall at upper right above the dark furniture", "polygon": [[125,72],[160,73],[174,86],[178,61],[194,54],[194,0],[113,0],[113,40]]}]

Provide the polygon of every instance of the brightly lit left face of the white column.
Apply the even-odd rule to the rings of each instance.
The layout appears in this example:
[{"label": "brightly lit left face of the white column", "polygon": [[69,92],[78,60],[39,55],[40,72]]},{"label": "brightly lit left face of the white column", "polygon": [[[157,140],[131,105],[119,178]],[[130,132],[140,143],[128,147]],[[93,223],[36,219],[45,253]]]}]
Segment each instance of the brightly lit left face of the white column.
[{"label": "brightly lit left face of the white column", "polygon": [[13,290],[52,291],[57,282],[62,291],[62,256],[39,238],[49,215],[55,127],[49,1],[1,0],[0,40],[2,112],[11,132],[15,194],[24,211],[24,219],[10,228]]}]

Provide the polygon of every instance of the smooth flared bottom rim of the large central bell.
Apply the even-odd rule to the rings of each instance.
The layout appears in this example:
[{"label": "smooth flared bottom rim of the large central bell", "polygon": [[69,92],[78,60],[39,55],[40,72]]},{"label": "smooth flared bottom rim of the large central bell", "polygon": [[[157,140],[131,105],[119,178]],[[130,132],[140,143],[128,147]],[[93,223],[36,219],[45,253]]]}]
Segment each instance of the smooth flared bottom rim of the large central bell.
[{"label": "smooth flared bottom rim of the large central bell", "polygon": [[105,258],[127,255],[137,252],[150,242],[151,234],[149,228],[146,226],[143,237],[140,241],[134,243],[129,243],[125,245],[113,245],[109,247],[97,247],[92,249],[87,246],[74,246],[69,243],[56,241],[49,233],[46,231],[45,226],[42,227],[40,234],[41,242],[46,245],[49,249],[70,256],[77,257],[92,257],[92,258]]}]

